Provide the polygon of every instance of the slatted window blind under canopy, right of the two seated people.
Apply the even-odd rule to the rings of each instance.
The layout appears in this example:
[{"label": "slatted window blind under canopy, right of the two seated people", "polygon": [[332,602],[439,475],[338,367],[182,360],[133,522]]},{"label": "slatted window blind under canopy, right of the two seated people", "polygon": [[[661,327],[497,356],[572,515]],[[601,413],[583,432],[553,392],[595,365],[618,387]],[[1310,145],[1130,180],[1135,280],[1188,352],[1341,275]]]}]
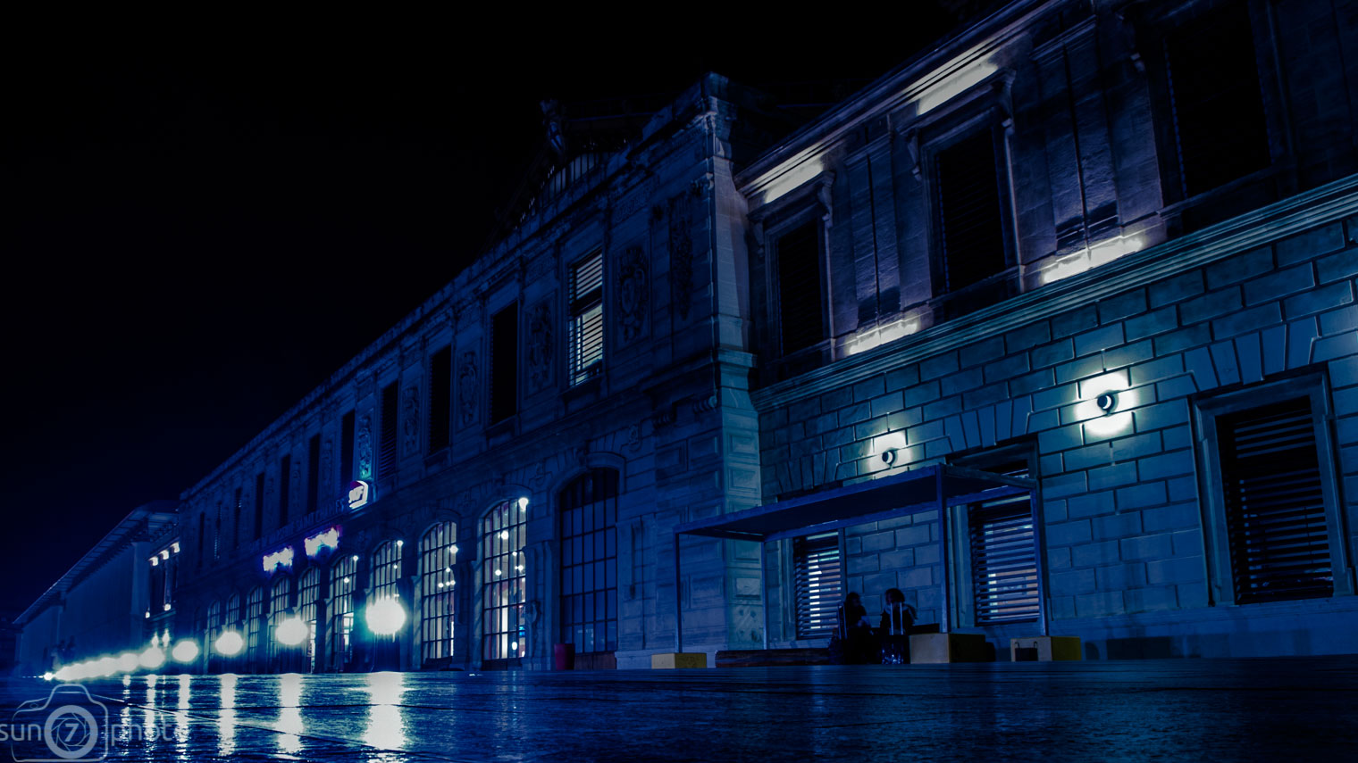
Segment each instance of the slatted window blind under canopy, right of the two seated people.
[{"label": "slatted window blind under canopy, right of the two seated people", "polygon": [[[1028,468],[995,468],[1028,477]],[[967,516],[976,625],[1038,618],[1038,547],[1028,496],[987,501]]]}]

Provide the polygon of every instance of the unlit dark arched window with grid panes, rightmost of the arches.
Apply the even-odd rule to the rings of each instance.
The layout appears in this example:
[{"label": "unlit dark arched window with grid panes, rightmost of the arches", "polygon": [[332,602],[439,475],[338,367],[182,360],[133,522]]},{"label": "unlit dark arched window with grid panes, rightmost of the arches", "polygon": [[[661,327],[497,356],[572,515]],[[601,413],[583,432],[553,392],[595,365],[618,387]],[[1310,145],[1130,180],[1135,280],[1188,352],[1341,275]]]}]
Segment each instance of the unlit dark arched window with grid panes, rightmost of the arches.
[{"label": "unlit dark arched window with grid panes, rightmost of the arches", "polygon": [[618,472],[598,468],[561,491],[561,641],[618,649]]}]

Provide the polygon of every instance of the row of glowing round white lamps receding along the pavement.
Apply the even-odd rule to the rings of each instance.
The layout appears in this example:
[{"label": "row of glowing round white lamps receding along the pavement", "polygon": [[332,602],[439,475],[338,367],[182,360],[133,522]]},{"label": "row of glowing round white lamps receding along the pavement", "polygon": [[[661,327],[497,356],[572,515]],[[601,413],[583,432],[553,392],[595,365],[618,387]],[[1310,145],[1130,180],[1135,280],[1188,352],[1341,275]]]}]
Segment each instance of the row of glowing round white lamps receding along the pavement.
[{"label": "row of glowing round white lamps receding along the pavement", "polygon": [[[368,606],[368,630],[378,635],[395,635],[406,625],[406,610],[395,597],[386,597]],[[278,623],[274,638],[284,646],[300,646],[311,635],[311,629],[299,616],[291,616]],[[223,631],[212,644],[213,650],[223,657],[235,657],[244,649],[246,641],[234,630]],[[152,642],[145,650],[125,652],[120,656],[98,657],[84,663],[73,663],[54,673],[45,673],[48,680],[75,682],[102,679],[118,673],[134,673],[141,669],[159,671],[166,661],[189,664],[198,658],[198,644],[190,638],[174,645],[167,657],[159,642]]]}]

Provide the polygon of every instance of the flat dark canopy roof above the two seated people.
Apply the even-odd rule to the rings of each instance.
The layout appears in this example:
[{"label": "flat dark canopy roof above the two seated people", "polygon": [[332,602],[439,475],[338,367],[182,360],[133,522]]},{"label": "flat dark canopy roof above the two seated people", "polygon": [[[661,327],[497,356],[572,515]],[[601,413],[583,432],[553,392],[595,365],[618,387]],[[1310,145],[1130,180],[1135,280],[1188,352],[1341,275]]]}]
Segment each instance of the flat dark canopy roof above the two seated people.
[{"label": "flat dark canopy roof above the two seated people", "polygon": [[684,523],[675,527],[675,535],[770,542],[937,509],[940,505],[1004,498],[1035,487],[1036,483],[1027,478],[934,464]]}]

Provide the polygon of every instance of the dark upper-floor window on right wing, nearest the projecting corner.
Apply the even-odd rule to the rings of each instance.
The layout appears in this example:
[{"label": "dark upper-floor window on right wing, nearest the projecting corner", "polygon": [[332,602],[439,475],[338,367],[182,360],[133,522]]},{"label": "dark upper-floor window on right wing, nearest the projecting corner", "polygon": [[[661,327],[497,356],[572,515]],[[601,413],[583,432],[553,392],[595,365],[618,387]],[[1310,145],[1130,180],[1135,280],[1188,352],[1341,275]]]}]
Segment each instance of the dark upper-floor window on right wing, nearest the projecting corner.
[{"label": "dark upper-floor window on right wing, nearest the projecting corner", "polygon": [[774,242],[778,261],[778,327],[782,354],[826,338],[820,224],[804,223]]}]

